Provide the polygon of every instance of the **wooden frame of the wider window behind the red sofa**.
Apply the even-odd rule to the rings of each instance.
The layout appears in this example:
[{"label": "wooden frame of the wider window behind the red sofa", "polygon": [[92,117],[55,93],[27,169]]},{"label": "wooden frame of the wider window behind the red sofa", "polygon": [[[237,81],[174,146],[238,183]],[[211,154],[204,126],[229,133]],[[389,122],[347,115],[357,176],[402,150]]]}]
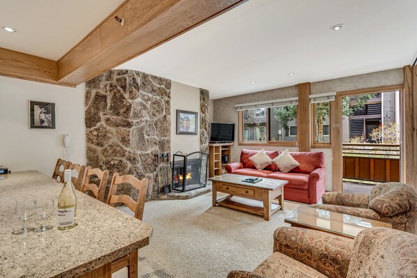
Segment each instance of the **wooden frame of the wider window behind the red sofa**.
[{"label": "wooden frame of the wider window behind the red sofa", "polygon": [[[243,141],[243,111],[237,111],[238,113],[238,146],[283,146],[283,147],[297,147],[298,140],[295,141],[269,141],[269,109],[265,108],[266,116],[266,128],[265,139],[266,141]],[[298,114],[298,105],[297,105]]]}]

